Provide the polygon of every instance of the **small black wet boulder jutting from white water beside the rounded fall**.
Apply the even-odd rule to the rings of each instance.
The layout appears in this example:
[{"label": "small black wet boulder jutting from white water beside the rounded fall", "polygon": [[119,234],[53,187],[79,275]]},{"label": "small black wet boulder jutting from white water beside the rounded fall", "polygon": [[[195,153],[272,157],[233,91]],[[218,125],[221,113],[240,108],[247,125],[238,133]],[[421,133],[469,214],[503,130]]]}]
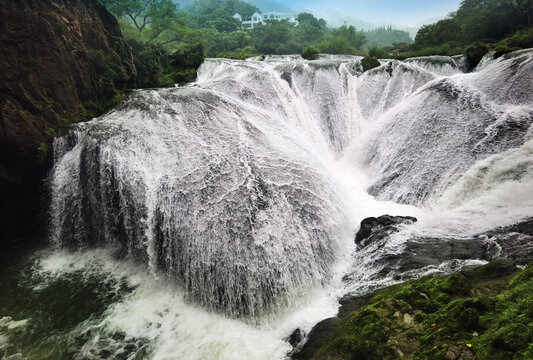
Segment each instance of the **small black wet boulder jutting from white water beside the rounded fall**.
[{"label": "small black wet boulder jutting from white water beside the rounded fall", "polygon": [[382,215],[377,218],[366,218],[361,221],[361,227],[355,235],[355,243],[363,247],[367,246],[398,231],[399,225],[412,224],[416,221],[417,219],[411,216]]}]

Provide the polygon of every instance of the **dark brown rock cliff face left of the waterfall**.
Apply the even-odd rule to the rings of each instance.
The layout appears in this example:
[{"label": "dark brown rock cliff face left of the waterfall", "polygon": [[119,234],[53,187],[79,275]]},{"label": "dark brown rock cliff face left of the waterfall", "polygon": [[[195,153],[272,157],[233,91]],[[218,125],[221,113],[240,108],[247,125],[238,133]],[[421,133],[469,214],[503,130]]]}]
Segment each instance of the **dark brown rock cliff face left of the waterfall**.
[{"label": "dark brown rock cliff face left of the waterfall", "polygon": [[35,225],[47,137],[118,103],[134,75],[116,19],[95,1],[0,0],[0,241]]}]

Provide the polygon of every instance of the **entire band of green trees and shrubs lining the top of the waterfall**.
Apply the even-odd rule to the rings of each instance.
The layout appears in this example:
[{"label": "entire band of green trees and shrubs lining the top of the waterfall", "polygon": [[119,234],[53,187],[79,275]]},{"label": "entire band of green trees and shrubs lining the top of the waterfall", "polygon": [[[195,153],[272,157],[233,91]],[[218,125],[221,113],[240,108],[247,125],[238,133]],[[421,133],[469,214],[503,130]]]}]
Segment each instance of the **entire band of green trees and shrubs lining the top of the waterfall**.
[{"label": "entire band of green trees and shrubs lining the top of the waterfall", "polygon": [[464,0],[445,19],[422,26],[414,41],[390,26],[334,28],[310,13],[298,14],[297,24],[268,20],[243,29],[233,15],[249,18],[261,9],[241,0],[195,0],[183,7],[172,0],[99,1],[119,19],[136,50],[138,86],[187,82],[204,57],[302,54],[315,59],[327,53],[405,59],[465,53],[475,66],[489,50],[501,55],[533,46],[533,0]]}]

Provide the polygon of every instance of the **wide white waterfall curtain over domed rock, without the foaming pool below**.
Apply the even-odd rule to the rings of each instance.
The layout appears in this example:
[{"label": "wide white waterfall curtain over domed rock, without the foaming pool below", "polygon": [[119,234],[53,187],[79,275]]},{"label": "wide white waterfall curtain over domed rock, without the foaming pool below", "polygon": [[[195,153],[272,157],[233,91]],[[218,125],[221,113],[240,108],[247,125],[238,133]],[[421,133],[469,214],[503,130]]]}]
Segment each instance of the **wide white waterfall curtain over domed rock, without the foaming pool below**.
[{"label": "wide white waterfall curtain over domed rock, without the foaming pool below", "polygon": [[531,193],[532,58],[468,74],[460,57],[365,73],[359,57],[208,59],[194,84],[135,91],[56,139],[51,240],[115,248],[231,316],[288,308],[354,250],[370,200],[352,170],[424,211]]}]

